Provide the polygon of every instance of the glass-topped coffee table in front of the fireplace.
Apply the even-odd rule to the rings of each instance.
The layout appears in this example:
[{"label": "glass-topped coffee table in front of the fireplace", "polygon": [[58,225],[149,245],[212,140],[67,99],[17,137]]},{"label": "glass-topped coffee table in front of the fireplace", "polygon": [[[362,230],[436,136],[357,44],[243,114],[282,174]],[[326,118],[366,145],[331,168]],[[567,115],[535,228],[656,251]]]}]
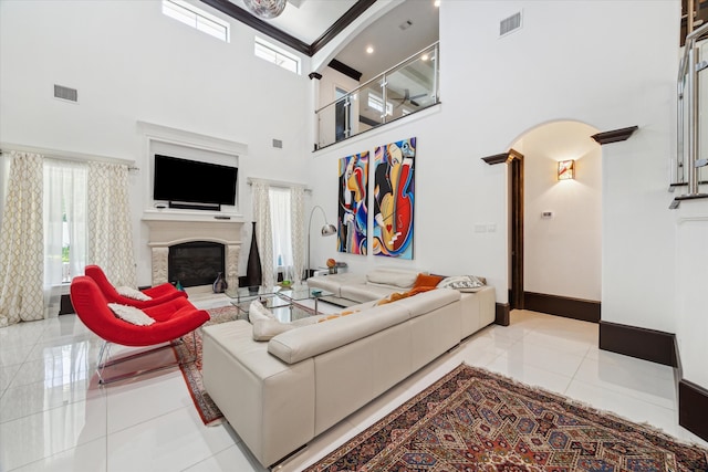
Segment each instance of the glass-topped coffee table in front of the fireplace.
[{"label": "glass-topped coffee table in front of the fireplace", "polygon": [[[231,304],[239,310],[239,318],[248,319],[251,302],[258,300],[279,321],[288,323],[319,315],[319,300],[334,294],[320,289],[310,289],[306,285],[289,287],[259,285],[227,290],[226,295],[233,298]],[[311,306],[310,301],[313,301],[314,307]]]}]

